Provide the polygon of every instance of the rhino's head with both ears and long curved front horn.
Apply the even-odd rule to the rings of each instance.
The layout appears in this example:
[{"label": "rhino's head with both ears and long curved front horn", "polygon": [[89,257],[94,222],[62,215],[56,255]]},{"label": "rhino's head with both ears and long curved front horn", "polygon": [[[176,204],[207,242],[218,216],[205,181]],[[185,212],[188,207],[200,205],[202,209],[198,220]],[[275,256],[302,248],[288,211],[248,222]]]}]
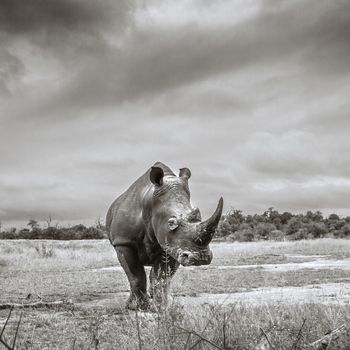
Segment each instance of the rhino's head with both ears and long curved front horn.
[{"label": "rhino's head with both ears and long curved front horn", "polygon": [[164,176],[162,168],[152,167],[152,227],[162,248],[180,264],[207,265],[213,257],[209,243],[221,217],[223,199],[220,198],[214,214],[201,221],[199,209],[190,203],[190,176],[187,168],[180,169],[177,177]]}]

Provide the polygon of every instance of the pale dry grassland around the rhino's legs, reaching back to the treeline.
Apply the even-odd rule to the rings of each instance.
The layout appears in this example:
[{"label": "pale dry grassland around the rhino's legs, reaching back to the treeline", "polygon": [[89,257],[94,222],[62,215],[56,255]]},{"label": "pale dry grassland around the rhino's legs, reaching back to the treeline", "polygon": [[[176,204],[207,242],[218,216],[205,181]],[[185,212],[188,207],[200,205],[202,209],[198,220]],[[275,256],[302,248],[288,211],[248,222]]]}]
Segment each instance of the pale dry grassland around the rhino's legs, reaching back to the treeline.
[{"label": "pale dry grassland around the rhino's legs, reaching back to the treeline", "polygon": [[[72,300],[24,310],[18,344],[28,349],[255,349],[265,333],[275,349],[290,350],[350,328],[349,240],[212,246],[211,265],[179,269],[166,312],[136,314],[124,310],[129,287],[107,241],[0,241],[0,304]],[[317,299],[312,289],[297,302],[288,294],[324,286]],[[287,295],[271,298],[274,290]],[[0,325],[7,314],[0,310]],[[349,349],[349,333],[332,346]]]}]

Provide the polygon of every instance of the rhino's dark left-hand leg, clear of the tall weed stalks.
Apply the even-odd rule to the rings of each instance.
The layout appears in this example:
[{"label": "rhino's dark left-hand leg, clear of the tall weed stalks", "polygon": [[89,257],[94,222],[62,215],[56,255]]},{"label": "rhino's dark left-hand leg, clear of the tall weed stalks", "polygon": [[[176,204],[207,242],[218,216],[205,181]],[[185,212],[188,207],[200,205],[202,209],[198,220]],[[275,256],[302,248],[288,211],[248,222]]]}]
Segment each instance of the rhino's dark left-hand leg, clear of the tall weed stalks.
[{"label": "rhino's dark left-hand leg, clear of the tall weed stalks", "polygon": [[115,250],[130,284],[130,297],[126,307],[131,310],[148,310],[150,304],[147,295],[146,272],[136,251],[132,247],[127,246],[117,246]]}]

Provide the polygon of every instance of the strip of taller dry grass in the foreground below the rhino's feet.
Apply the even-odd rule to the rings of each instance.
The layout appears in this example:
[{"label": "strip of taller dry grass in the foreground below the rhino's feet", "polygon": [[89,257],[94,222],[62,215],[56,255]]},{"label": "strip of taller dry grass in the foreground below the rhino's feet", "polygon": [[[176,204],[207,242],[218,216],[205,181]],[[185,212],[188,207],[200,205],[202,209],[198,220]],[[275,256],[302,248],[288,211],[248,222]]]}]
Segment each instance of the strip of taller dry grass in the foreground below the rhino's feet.
[{"label": "strip of taller dry grass in the foreground below the rhino's feet", "polygon": [[[198,312],[199,311],[199,312]],[[15,319],[14,319],[15,321]],[[350,307],[207,305],[188,311],[173,305],[165,313],[135,313],[122,309],[86,313],[57,309],[25,313],[18,343],[42,349],[256,349],[268,337],[273,349],[306,349],[328,330],[347,324],[348,332],[328,350],[349,349]],[[9,329],[11,338],[15,322]],[[139,331],[137,331],[139,329]]]}]

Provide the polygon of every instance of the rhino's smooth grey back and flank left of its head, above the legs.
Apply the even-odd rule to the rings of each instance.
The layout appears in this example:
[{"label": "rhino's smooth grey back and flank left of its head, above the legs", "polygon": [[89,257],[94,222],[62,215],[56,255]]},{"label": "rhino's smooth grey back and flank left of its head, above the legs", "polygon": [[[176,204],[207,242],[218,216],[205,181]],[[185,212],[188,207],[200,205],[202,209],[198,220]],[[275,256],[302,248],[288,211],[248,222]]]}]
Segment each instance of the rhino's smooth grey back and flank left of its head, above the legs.
[{"label": "rhino's smooth grey back and flank left of its head, above the legs", "polygon": [[[163,163],[157,162],[154,166],[161,167],[164,173],[173,174]],[[137,244],[143,240],[146,231],[142,218],[144,199],[153,191],[149,175],[150,169],[110,206],[106,217],[106,228],[113,245]]]}]

